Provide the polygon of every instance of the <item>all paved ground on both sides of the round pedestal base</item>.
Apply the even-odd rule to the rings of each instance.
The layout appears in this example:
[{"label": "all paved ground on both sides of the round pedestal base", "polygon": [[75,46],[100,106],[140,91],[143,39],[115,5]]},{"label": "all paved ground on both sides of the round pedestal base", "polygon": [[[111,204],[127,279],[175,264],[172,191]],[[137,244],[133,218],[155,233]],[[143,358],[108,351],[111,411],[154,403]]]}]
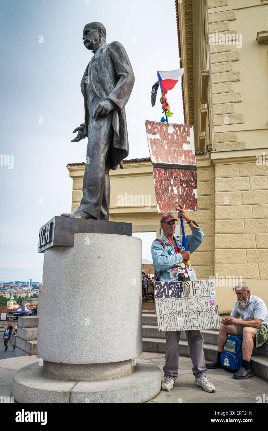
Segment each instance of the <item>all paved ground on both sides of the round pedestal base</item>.
[{"label": "all paved ground on both sides of the round pedestal base", "polygon": [[[164,353],[143,352],[140,358],[158,365],[163,380]],[[37,361],[38,358],[35,355],[0,360],[0,396],[10,397],[15,372]],[[259,377],[235,380],[231,373],[223,369],[209,370],[208,377],[216,387],[216,392],[213,394],[194,385],[191,359],[181,356],[179,375],[173,390],[171,392],[161,390],[147,403],[256,403],[256,397],[262,397],[268,392],[267,381]]]}]

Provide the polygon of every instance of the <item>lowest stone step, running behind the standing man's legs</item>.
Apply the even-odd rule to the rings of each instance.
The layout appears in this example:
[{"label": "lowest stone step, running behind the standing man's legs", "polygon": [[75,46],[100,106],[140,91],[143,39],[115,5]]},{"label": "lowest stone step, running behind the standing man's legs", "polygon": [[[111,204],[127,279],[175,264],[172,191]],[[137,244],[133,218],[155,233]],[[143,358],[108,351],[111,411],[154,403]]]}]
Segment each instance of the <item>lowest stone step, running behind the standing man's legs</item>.
[{"label": "lowest stone step, running behind the standing man's legs", "polygon": [[[190,356],[187,341],[180,340],[179,346],[181,356]],[[213,361],[216,358],[217,346],[205,343],[203,348],[206,361]],[[143,352],[166,353],[165,339],[143,337]],[[253,373],[258,377],[268,380],[268,357],[253,353],[250,362]]]}]

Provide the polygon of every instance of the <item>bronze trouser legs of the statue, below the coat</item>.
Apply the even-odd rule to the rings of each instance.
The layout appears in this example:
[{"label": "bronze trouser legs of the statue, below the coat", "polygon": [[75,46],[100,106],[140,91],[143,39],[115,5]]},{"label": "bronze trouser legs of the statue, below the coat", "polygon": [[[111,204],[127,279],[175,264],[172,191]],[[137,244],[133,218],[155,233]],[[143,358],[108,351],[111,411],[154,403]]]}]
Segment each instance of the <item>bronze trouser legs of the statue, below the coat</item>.
[{"label": "bronze trouser legs of the statue, below the coat", "polygon": [[107,157],[113,140],[113,112],[107,116],[92,120],[88,136],[83,197],[79,210],[85,211],[98,219],[103,210],[109,218],[110,179]]}]

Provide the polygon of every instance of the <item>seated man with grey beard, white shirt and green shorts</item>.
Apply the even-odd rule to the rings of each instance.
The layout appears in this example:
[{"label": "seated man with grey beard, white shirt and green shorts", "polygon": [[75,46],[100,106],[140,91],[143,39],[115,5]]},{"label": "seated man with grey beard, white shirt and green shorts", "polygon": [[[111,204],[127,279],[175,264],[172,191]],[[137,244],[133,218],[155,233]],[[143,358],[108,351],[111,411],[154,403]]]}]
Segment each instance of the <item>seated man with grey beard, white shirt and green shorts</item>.
[{"label": "seated man with grey beard, white shirt and green shorts", "polygon": [[250,369],[250,358],[254,344],[256,347],[268,343],[268,310],[264,301],[253,295],[247,283],[238,283],[234,286],[237,300],[228,317],[222,318],[222,327],[219,330],[218,353],[216,359],[207,368],[222,368],[221,354],[228,335],[243,337],[243,358],[238,372],[233,378],[245,379],[254,377]]}]

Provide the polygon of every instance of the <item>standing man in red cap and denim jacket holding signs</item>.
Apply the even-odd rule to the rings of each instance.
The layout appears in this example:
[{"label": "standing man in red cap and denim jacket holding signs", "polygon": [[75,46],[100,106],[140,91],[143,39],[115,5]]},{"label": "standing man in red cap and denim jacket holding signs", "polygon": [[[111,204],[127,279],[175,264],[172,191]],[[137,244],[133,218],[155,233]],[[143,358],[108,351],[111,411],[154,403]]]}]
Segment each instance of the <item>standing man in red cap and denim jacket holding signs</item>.
[{"label": "standing man in red cap and denim jacket holding signs", "polygon": [[[178,218],[182,216],[192,231],[192,234],[186,237],[186,248],[188,251],[184,250],[183,237],[174,237],[175,221],[177,219],[174,219],[171,214],[163,214],[160,219],[163,235],[159,239],[163,242],[164,248],[158,240],[154,240],[151,247],[152,260],[159,281],[171,281],[171,276],[167,270],[170,271],[170,268],[177,264],[186,265],[186,262],[190,259],[190,254],[200,246],[204,238],[203,232],[195,221],[189,219],[183,206],[179,204],[177,209],[179,210]],[[192,269],[192,265],[190,265],[190,268]],[[174,281],[196,280],[194,269],[190,271],[190,274],[189,272],[187,273],[187,278],[185,277],[185,273],[175,272],[175,274],[177,275],[172,276],[172,280]],[[193,364],[192,372],[195,376],[194,383],[196,386],[201,386],[207,392],[215,392],[215,387],[207,378],[203,351],[203,335],[199,330],[186,331],[186,334]],[[167,331],[165,335],[166,363],[163,367],[164,381],[161,388],[162,390],[172,390],[174,381],[178,377],[180,331]]]}]

